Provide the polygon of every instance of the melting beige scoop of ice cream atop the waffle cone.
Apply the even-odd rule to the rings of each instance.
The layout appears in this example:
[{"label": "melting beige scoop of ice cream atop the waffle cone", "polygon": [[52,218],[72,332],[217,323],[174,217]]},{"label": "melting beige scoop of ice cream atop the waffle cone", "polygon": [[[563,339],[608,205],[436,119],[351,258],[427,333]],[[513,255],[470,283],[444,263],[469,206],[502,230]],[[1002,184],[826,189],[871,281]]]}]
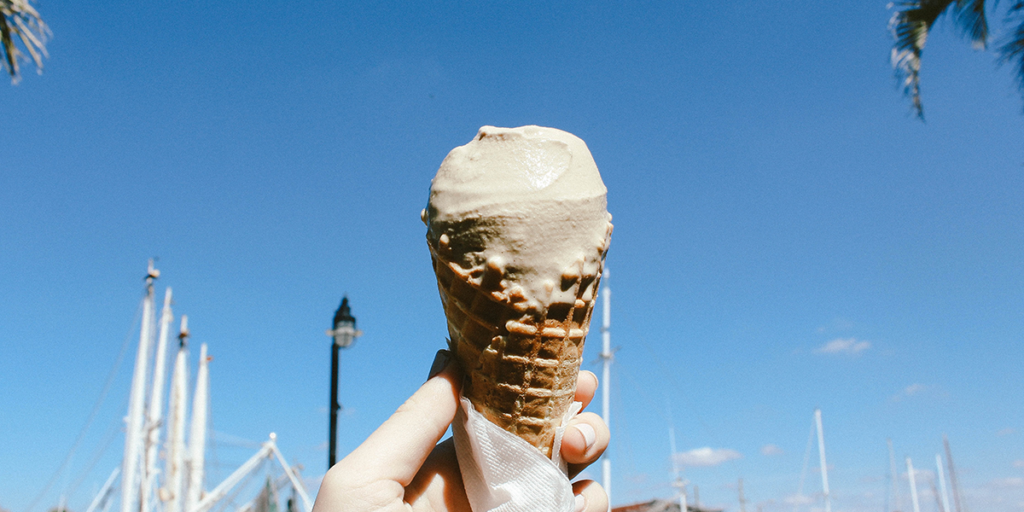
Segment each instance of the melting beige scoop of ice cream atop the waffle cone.
[{"label": "melting beige scoop of ice cream atop the waffle cone", "polygon": [[484,126],[441,163],[423,220],[431,246],[474,284],[541,311],[575,300],[563,281],[599,271],[611,228],[606,194],[575,135]]}]

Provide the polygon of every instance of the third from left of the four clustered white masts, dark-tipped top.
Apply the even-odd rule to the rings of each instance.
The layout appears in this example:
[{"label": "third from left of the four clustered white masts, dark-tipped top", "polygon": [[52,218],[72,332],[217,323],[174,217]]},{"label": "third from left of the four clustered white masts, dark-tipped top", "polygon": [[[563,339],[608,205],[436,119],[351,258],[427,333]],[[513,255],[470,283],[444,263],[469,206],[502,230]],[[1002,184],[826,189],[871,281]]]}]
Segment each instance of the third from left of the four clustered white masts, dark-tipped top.
[{"label": "third from left of the four clustered white masts, dark-tipped top", "polygon": [[167,502],[164,512],[181,512],[184,504],[185,401],[187,400],[188,316],[181,315],[178,355],[171,377],[171,398],[167,428],[167,470],[161,499]]}]

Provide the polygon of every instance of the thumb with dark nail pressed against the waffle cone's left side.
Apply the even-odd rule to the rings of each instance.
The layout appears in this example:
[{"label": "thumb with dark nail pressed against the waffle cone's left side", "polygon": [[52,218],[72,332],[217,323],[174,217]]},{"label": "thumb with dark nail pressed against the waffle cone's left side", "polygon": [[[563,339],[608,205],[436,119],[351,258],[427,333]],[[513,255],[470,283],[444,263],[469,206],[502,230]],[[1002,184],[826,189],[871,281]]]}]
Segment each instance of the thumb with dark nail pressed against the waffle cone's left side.
[{"label": "thumb with dark nail pressed against the waffle cone's left side", "polygon": [[370,481],[409,485],[455,419],[461,383],[452,353],[439,350],[427,382],[338,464]]}]

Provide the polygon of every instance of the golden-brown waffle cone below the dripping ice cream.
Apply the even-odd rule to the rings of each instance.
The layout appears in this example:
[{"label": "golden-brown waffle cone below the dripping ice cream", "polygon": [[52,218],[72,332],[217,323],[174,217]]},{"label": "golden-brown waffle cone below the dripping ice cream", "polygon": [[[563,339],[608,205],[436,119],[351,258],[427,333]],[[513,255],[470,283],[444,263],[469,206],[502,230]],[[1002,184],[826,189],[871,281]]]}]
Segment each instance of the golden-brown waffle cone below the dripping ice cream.
[{"label": "golden-brown waffle cone below the dripping ice cream", "polygon": [[492,423],[551,457],[555,429],[575,394],[601,265],[596,274],[565,272],[560,286],[575,301],[538,310],[516,287],[504,288],[497,265],[481,275],[429,245],[449,346],[466,376],[463,395]]}]

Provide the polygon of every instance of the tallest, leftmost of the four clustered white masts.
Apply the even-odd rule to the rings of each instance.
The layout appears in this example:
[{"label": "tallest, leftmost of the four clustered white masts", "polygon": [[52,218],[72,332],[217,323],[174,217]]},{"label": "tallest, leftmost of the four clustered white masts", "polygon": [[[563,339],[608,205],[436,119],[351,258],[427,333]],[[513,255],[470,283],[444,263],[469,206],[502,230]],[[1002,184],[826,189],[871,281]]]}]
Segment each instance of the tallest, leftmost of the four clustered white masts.
[{"label": "tallest, leftmost of the four clustered white masts", "polygon": [[[153,267],[153,260],[145,274],[145,298],[142,299],[142,327],[139,329],[135,371],[132,374],[131,394],[128,398],[128,416],[125,418],[125,453],[121,470],[121,512],[135,512],[139,493],[139,458],[145,429],[145,375],[150,366],[151,325],[153,323],[153,281],[160,271]],[[141,468],[145,472],[145,468]],[[143,480],[144,481],[144,480]]]}]

